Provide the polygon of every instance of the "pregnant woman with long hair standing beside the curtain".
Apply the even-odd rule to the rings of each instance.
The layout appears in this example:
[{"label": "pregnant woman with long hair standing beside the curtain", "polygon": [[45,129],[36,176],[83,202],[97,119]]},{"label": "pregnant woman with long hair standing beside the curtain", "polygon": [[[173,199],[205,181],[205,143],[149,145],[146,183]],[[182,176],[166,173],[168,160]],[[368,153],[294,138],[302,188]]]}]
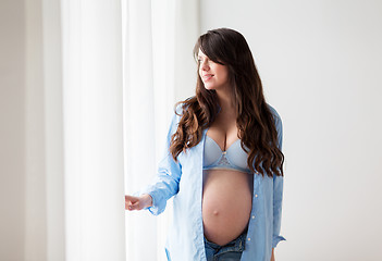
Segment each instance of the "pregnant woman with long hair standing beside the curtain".
[{"label": "pregnant woman with long hair standing beside the curtain", "polygon": [[174,196],[168,260],[274,260],[285,240],[281,119],[242,34],[209,30],[194,54],[196,95],[176,103],[156,179],[125,208],[157,215]]}]

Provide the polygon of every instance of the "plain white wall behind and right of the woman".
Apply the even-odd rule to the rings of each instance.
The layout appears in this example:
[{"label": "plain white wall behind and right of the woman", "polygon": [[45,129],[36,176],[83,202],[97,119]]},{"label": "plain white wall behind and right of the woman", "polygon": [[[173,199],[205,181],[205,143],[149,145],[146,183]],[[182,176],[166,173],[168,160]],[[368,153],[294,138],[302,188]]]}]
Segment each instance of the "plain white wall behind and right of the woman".
[{"label": "plain white wall behind and right of the woman", "polygon": [[284,124],[276,259],[381,260],[382,2],[202,0],[252,50]]}]

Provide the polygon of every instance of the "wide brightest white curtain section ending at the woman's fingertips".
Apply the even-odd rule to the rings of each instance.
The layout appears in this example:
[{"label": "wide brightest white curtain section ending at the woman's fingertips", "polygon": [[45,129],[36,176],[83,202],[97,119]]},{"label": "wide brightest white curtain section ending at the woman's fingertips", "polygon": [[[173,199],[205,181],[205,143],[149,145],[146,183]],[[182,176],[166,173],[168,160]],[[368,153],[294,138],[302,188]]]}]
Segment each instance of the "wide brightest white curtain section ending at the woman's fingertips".
[{"label": "wide brightest white curtain section ending at the woman's fingertips", "polygon": [[122,261],[121,1],[61,3],[66,260]]}]

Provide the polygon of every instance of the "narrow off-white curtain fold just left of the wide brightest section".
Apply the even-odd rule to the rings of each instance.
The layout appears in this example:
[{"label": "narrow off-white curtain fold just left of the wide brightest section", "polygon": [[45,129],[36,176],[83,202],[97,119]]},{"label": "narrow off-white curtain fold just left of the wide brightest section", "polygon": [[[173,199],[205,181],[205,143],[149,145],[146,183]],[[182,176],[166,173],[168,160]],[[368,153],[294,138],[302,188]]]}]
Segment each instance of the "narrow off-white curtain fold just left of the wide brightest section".
[{"label": "narrow off-white curtain fold just left of the wide brightest section", "polygon": [[47,260],[65,260],[60,0],[42,1]]}]

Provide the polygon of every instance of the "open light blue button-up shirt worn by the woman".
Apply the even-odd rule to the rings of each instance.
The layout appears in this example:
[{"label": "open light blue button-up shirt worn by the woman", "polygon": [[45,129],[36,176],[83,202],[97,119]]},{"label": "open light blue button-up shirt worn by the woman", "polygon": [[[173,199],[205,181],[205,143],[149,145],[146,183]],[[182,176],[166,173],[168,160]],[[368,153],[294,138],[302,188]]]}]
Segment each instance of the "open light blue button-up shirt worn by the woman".
[{"label": "open light blue button-up shirt worn by the woman", "polygon": [[[278,112],[270,107],[278,130],[279,148],[282,146],[282,123]],[[178,114],[181,105],[176,108]],[[172,261],[206,261],[204,226],[201,217],[202,156],[207,129],[200,142],[181,152],[175,162],[169,151],[171,135],[176,132],[181,116],[174,113],[164,156],[159,162],[158,173],[151,185],[140,190],[152,197],[148,210],[158,215],[165,209],[167,201],[173,199],[173,224],[170,228],[165,252]],[[270,261],[272,248],[280,240],[283,177],[255,174],[252,209],[248,225],[242,261]]]}]

